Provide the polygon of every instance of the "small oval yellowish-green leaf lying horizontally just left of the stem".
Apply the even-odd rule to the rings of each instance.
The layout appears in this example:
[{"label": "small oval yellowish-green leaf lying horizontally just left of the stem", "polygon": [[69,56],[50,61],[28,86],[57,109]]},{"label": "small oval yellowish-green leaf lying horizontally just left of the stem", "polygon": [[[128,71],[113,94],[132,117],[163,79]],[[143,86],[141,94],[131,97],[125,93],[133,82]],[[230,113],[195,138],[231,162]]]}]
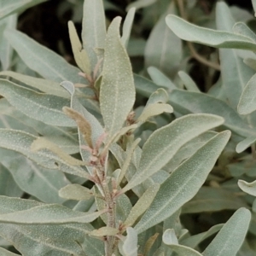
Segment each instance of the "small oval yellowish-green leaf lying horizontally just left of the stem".
[{"label": "small oval yellowish-green leaf lying horizontally just left of the stem", "polygon": [[70,200],[85,201],[90,199],[92,192],[79,184],[68,184],[60,189],[59,195]]}]

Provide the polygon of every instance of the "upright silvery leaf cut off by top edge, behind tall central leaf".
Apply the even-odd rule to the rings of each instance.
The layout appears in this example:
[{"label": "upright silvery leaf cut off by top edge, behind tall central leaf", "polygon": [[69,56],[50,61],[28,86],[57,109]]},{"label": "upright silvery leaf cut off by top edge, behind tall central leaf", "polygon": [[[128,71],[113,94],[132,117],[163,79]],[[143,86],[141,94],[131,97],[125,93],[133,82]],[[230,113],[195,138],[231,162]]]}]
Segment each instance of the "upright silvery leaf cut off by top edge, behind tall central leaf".
[{"label": "upright silvery leaf cut off by top edge, behind tall central leaf", "polygon": [[[97,56],[95,49],[104,49],[106,38],[106,23],[102,0],[85,0],[82,21],[82,41],[85,51],[90,59],[92,70],[102,56]],[[71,79],[64,79],[71,80]]]}]

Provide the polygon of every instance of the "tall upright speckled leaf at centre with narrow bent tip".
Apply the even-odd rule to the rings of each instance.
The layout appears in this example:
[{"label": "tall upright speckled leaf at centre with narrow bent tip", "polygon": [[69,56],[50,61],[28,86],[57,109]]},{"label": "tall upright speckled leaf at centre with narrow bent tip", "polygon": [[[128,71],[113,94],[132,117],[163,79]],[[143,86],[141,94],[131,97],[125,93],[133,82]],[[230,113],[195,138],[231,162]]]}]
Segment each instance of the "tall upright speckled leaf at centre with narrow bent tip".
[{"label": "tall upright speckled leaf at centre with narrow bent tip", "polygon": [[131,63],[119,39],[120,18],[108,27],[106,38],[100,106],[108,137],[124,125],[135,101]]}]

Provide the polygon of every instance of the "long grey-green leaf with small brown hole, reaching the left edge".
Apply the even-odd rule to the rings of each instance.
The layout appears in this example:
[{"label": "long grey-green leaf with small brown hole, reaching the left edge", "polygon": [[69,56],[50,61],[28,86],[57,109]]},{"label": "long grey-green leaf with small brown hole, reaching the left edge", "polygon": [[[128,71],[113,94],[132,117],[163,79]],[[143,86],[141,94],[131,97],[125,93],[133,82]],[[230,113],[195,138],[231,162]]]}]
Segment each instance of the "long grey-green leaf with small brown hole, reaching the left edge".
[{"label": "long grey-green leaf with small brown hole, reaching the left edge", "polygon": [[0,147],[14,150],[26,155],[30,160],[35,161],[40,166],[49,169],[57,169],[79,177],[90,178],[89,174],[79,166],[70,166],[53,152],[44,149],[34,153],[31,145],[37,137],[24,131],[0,129]]}]

